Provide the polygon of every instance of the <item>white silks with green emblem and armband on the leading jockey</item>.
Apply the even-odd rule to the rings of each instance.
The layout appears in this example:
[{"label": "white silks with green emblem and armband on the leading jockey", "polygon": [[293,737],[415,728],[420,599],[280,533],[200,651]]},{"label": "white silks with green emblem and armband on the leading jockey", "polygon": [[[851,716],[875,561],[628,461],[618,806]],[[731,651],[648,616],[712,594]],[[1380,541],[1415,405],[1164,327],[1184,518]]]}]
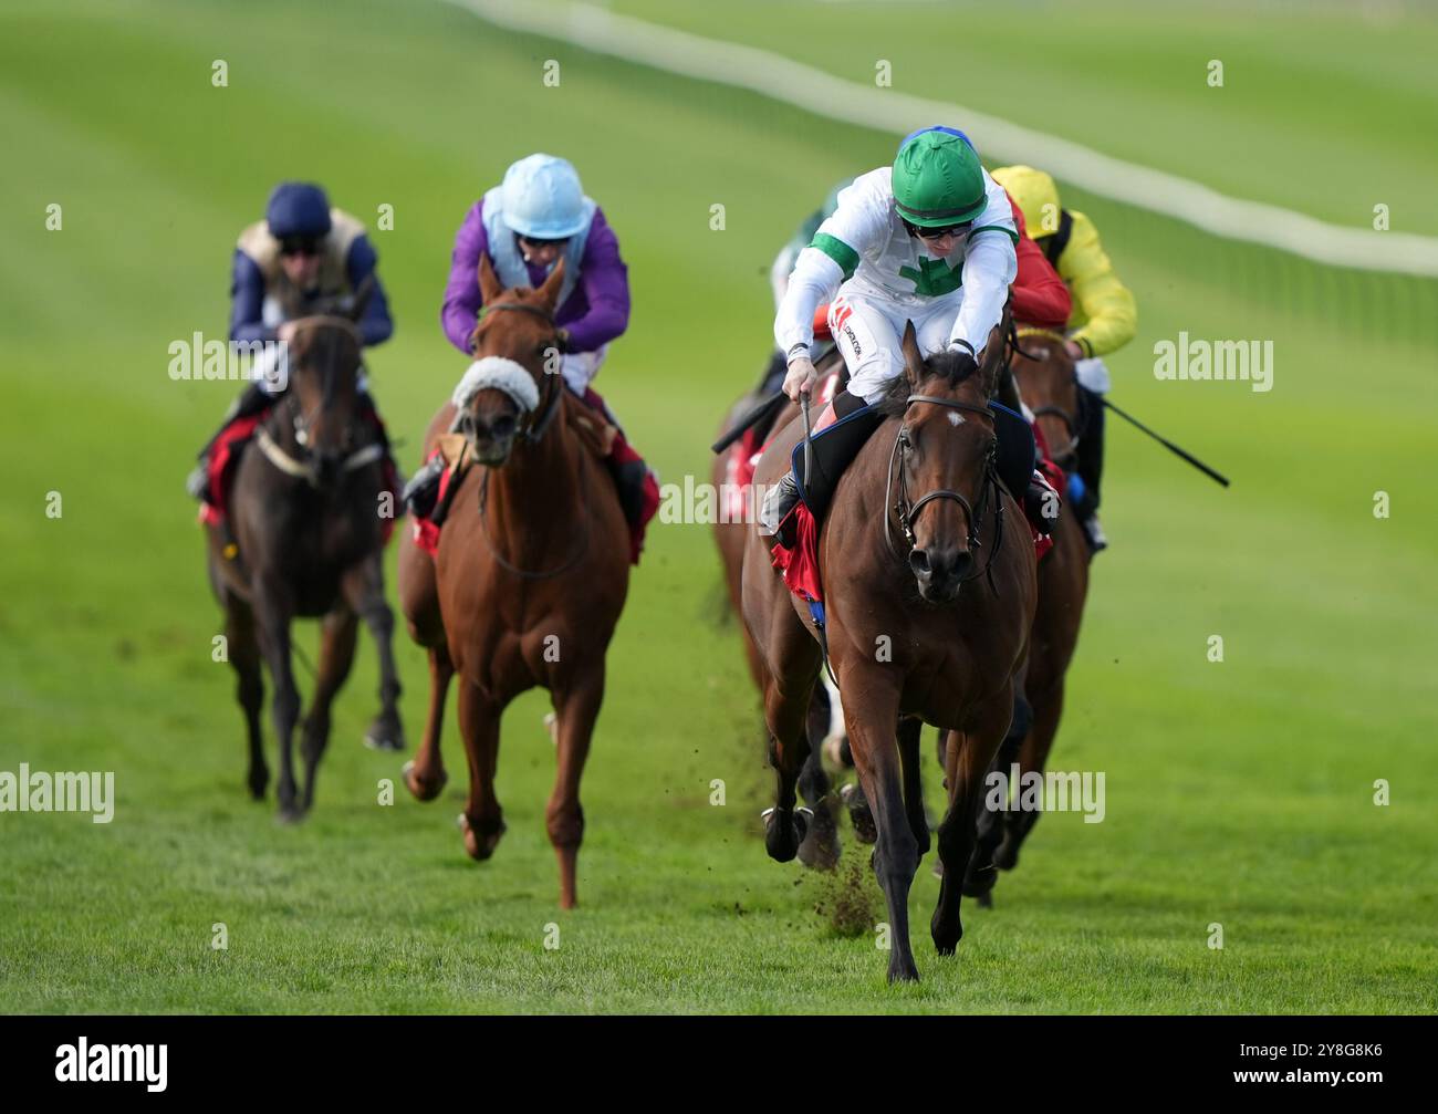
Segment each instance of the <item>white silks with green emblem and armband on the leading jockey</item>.
[{"label": "white silks with green emblem and armband on the leading jockey", "polygon": [[905,227],[892,177],[892,167],[880,167],[854,178],[800,253],[774,321],[781,352],[814,342],[814,310],[840,292],[851,303],[873,302],[889,316],[912,310],[928,318],[942,299],[955,306],[951,339],[982,352],[1018,272],[1008,194],[984,171],[988,204],[949,256],[936,259]]}]

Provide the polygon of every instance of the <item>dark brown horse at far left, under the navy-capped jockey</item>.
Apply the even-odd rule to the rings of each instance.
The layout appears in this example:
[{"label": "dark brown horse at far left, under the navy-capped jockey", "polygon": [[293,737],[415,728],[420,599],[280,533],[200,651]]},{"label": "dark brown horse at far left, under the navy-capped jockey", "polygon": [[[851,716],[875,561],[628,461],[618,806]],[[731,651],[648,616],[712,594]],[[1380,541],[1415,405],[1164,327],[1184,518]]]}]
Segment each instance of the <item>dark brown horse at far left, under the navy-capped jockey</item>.
[{"label": "dark brown horse at far left, under the navy-capped jockey", "polygon": [[[362,312],[364,296],[342,316],[295,322],[290,387],[256,425],[255,443],[240,459],[227,525],[206,530],[210,585],[224,608],[227,657],[249,733],[246,781],[256,799],[263,799],[269,783],[260,737],[262,660],[275,686],[276,796],[283,822],[303,818],[313,804],[331,706],[354,663],[361,617],[380,651],[381,709],[367,737],[383,749],[404,746],[394,615],[384,598],[383,563],[394,496],[387,506],[384,444],[357,401],[361,339],[354,322]],[[302,724],[302,795],[292,759],[301,697],[290,663],[290,624],[299,617],[322,617],[315,693]]]}]

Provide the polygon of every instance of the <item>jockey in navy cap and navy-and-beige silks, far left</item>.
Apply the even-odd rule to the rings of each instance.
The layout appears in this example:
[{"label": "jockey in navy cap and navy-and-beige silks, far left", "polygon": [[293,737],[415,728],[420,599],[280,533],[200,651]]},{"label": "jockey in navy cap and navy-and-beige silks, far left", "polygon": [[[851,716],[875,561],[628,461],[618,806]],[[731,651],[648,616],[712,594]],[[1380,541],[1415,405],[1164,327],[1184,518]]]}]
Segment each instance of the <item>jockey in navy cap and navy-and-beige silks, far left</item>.
[{"label": "jockey in navy cap and navy-and-beige silks, far left", "polygon": [[[371,280],[368,302],[355,322],[361,339],[365,346],[390,339],[394,322],[375,273],[377,262],[364,224],[344,210],[331,208],[324,190],[311,183],[280,183],[270,193],[265,220],[242,231],[234,247],[232,344],[288,344],[298,319],[335,312],[367,279]],[[242,418],[263,413],[288,387],[265,372],[265,367],[252,364],[252,382],[200,453],[200,466],[187,484],[196,499],[209,503],[214,496],[209,457],[220,436]],[[362,372],[360,390],[361,402],[374,414]],[[374,418],[384,437],[378,415]]]}]

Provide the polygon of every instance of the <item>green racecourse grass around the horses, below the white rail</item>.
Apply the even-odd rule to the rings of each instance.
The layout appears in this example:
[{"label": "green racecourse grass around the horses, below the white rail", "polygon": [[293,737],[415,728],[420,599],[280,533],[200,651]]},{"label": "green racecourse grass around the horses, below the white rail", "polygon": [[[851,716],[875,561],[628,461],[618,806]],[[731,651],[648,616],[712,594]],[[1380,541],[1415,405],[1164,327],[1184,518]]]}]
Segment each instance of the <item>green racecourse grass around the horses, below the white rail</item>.
[{"label": "green racecourse grass around the horses, below the white rail", "polygon": [[[738,36],[748,20],[735,10]],[[1322,26],[1297,22],[1290,42]],[[1416,52],[1425,27],[1401,30]],[[1360,59],[1389,36],[1359,32]],[[227,89],[210,86],[216,57]],[[541,86],[546,57],[562,60],[558,89]],[[1145,88],[1152,59],[1130,60],[1103,72]],[[1355,96],[1380,79],[1402,91],[1402,57],[1345,65]],[[1370,89],[1355,111],[1382,116],[1399,92]],[[1087,116],[1112,89],[1081,80],[1067,96]],[[1142,114],[1142,98],[1129,109]],[[1265,93],[1254,111],[1284,121],[1276,149],[1322,144],[1332,124],[1319,102],[1297,112]],[[834,883],[764,855],[769,775],[738,635],[712,621],[703,526],[656,528],[631,586],[584,783],[580,910],[555,904],[542,694],[506,719],[509,832],[476,865],[453,827],[453,716],[446,796],[418,805],[401,788],[394,806],[375,804],[400,762],[360,746],[374,710],[367,640],[316,811],[278,828],[272,804],[243,795],[232,678],[210,660],[219,614],[180,489],[232,391],[165,375],[173,339],[224,328],[230,244],[276,178],[318,178],[370,221],[393,204],[395,230],[375,243],[398,332],[371,362],[413,467],[463,368],[436,321],[454,227],[510,160],[552,149],[577,161],[630,264],[634,321],[600,387],[666,480],[703,476],[719,413],[766,356],[772,252],[834,178],[884,161],[893,137],[450,7],[381,3],[10,6],[0,126],[0,770],[106,769],[118,792],[108,827],[0,815],[0,1009],[1438,1008],[1432,348],[1412,315],[1379,328],[1353,312],[1350,276],[1087,206],[1140,302],[1140,335],[1112,361],[1114,397],[1234,487],[1113,425],[1114,546],[1094,568],[1055,749],[1060,768],[1106,772],[1107,818],[1045,818],[998,908],[966,906],[953,960],[928,943],[926,861],[912,903],[925,982],[894,989],[871,934],[838,937],[814,911]],[[1398,139],[1375,147],[1403,167]],[[1158,149],[1148,161],[1169,165]],[[1416,191],[1428,170],[1402,170],[1401,184]],[[59,233],[43,230],[52,201]],[[709,230],[716,201],[723,233]],[[1179,329],[1273,338],[1276,388],[1156,382],[1148,354]],[[1388,520],[1370,512],[1379,489]],[[52,490],[58,520],[45,516]],[[1222,664],[1205,660],[1211,634],[1225,638]],[[302,640],[312,647],[313,631]],[[423,658],[407,643],[400,654],[417,737]],[[715,778],[723,808],[707,804]],[[1392,783],[1388,808],[1372,804],[1378,778]],[[1206,946],[1214,921],[1222,952]],[[210,949],[214,923],[227,952]],[[544,947],[549,924],[558,950]]]}]

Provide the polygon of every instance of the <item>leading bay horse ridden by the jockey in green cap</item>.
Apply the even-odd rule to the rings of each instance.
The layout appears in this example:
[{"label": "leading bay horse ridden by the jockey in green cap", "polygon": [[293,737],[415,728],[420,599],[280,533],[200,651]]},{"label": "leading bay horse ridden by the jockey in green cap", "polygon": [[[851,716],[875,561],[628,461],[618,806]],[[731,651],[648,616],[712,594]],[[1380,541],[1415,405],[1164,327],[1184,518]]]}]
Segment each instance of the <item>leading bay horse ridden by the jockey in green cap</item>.
[{"label": "leading bay horse ridden by the jockey in green cap", "polygon": [[[818,551],[828,658],[879,831],[873,864],[889,910],[890,982],[919,977],[909,887],[929,850],[929,827],[916,722],[952,732],[949,805],[938,828],[945,878],[930,924],[939,954],[952,954],[963,934],[962,878],[982,778],[1012,717],[1037,597],[1022,509],[994,471],[988,402],[1002,341],[991,341],[992,355],[974,374],[956,372],[949,354],[925,359],[912,323],[902,348],[905,374],[880,404],[883,424],[835,487]],[[775,483],[788,469],[797,427],[789,423],[765,450],[756,483]],[[823,654],[808,608],[769,568],[769,539],[758,530],[746,536],[742,588],[745,624],[765,667],[769,759],[778,775],[765,845],[782,862],[802,837],[795,782]],[[900,720],[906,726],[896,732]]]}]

